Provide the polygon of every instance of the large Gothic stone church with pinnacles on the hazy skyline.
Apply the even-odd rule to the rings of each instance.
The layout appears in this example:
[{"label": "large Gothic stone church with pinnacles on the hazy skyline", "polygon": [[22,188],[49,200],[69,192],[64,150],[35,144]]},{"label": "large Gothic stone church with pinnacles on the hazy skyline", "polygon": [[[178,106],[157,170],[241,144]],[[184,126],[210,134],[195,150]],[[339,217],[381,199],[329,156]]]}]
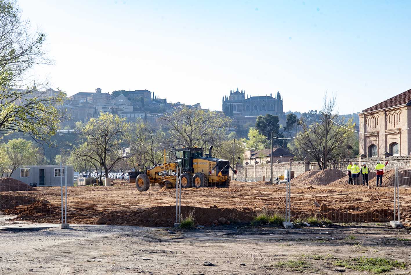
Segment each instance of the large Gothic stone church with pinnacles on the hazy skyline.
[{"label": "large Gothic stone church with pinnacles on the hazy skyline", "polygon": [[259,115],[283,115],[283,101],[280,92],[275,97],[248,96],[244,90],[230,90],[229,96],[223,96],[223,112],[230,117],[255,117]]}]

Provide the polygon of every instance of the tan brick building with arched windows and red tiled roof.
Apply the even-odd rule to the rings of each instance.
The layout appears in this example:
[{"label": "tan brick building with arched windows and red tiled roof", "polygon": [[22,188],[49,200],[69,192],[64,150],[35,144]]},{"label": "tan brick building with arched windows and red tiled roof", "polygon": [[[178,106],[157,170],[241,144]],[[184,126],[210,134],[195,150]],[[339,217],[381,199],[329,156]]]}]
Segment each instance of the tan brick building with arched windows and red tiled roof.
[{"label": "tan brick building with arched windows and red tiled roof", "polygon": [[[411,89],[363,110],[360,117],[360,155],[381,158],[386,152],[411,152]],[[406,131],[404,131],[406,130]]]}]

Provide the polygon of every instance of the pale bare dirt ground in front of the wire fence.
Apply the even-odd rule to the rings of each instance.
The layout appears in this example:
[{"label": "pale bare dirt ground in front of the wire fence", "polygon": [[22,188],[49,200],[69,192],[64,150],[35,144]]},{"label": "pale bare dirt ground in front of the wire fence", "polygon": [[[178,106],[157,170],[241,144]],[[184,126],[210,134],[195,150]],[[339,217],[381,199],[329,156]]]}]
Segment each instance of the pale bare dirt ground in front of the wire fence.
[{"label": "pale bare dirt ground in front of the wire fence", "polygon": [[356,257],[399,261],[388,272],[409,274],[411,232],[365,225],[0,230],[0,274],[372,274],[339,264]]}]

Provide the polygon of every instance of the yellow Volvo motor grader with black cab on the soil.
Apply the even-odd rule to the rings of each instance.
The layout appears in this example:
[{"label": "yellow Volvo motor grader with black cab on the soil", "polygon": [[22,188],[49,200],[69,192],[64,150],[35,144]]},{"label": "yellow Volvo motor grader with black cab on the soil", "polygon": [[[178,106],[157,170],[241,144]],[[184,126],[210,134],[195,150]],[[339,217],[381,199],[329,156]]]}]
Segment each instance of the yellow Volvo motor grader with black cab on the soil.
[{"label": "yellow Volvo motor grader with black cab on the soil", "polygon": [[[176,172],[181,170],[180,182],[182,188],[189,187],[229,187],[230,186],[230,166],[228,160],[212,157],[212,146],[208,149],[208,154],[203,156],[203,148],[179,148],[173,149],[176,161],[157,164],[151,169],[145,167],[143,173],[136,179],[136,187],[139,191],[147,191],[151,185],[157,183],[159,186],[175,188]],[[164,150],[164,156],[165,156]],[[233,170],[237,174],[236,170]]]}]

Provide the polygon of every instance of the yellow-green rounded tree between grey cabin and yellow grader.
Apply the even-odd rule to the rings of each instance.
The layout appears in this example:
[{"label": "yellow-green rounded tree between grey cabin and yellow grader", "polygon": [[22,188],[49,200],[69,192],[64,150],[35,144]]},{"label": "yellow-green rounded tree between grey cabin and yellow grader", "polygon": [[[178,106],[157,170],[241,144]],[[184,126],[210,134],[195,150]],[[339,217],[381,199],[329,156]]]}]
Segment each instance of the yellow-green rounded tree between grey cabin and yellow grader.
[{"label": "yellow-green rounded tree between grey cabin and yellow grader", "polygon": [[[80,129],[80,137],[84,143],[81,147],[74,148],[73,154],[83,160],[92,161],[96,167],[101,167],[108,178],[116,163],[126,157],[122,154],[122,145],[128,129],[125,120],[103,112],[98,118],[91,118]],[[100,181],[101,177],[102,173]]]}]

